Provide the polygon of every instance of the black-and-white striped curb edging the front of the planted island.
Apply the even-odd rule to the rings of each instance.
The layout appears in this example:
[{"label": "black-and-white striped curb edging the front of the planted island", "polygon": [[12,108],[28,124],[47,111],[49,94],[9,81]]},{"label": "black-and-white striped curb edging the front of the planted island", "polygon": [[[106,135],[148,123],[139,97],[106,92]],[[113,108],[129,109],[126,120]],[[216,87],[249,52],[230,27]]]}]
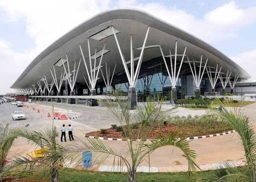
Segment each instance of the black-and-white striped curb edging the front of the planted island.
[{"label": "black-and-white striped curb edging the front of the planted island", "polygon": [[[191,136],[191,137],[187,137],[186,140],[197,140],[200,138],[209,138],[209,137],[214,137],[214,136],[221,136],[221,135],[226,135],[226,134],[230,134],[230,133],[234,133],[236,132],[235,130],[232,131],[227,131],[227,132],[223,132],[223,133],[216,133],[216,134],[208,134],[208,135],[204,135],[204,136]],[[86,138],[94,138],[94,139],[100,139],[100,140],[116,140],[116,141],[130,141],[129,139],[126,138],[108,138],[108,137],[98,137],[98,136],[89,136],[89,135],[83,135]],[[178,140],[180,138],[175,138],[174,140]],[[147,139],[147,140],[141,140],[141,139],[134,139],[132,141],[134,142],[149,142],[149,141],[154,141],[156,139]]]}]

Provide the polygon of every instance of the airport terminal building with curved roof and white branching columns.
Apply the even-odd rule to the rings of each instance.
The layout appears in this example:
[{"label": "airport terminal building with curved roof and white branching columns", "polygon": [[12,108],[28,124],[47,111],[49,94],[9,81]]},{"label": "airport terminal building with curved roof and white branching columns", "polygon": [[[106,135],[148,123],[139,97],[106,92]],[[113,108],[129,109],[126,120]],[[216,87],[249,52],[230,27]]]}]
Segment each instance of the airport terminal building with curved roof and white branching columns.
[{"label": "airport terminal building with curved roof and white branching columns", "polygon": [[[70,98],[119,89],[136,105],[150,95],[168,99],[174,93],[176,100],[195,90],[202,95],[234,92],[237,83],[249,78],[238,64],[197,37],[144,11],[114,9],[83,22],[46,48],[11,88],[20,94]],[[256,91],[256,83],[250,86]]]}]

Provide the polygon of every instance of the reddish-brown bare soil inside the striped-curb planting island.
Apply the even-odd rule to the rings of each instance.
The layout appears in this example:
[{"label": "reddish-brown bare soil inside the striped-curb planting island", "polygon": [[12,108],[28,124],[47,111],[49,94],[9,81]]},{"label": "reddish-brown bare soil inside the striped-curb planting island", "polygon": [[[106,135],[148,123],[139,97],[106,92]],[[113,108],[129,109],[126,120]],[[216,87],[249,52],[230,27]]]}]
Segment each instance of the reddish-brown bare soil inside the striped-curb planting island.
[{"label": "reddish-brown bare soil inside the striped-curb planting island", "polygon": [[[123,136],[122,132],[117,132],[115,129],[106,129],[107,132],[105,134],[100,133],[100,131],[93,131],[85,133],[87,136],[97,136],[97,137],[107,137],[107,138],[126,138]],[[171,132],[178,130],[178,134],[176,137],[189,137],[189,136],[204,136],[207,134],[215,134],[220,132],[227,132],[232,130],[231,127],[226,127],[223,125],[215,124],[214,127],[208,126],[205,127],[202,123],[198,123],[196,125],[176,125],[175,123],[162,125],[160,127],[155,127],[152,132],[148,135],[148,139],[158,138],[158,135],[167,137]],[[133,138],[137,138],[137,130],[135,129],[133,132]]]}]

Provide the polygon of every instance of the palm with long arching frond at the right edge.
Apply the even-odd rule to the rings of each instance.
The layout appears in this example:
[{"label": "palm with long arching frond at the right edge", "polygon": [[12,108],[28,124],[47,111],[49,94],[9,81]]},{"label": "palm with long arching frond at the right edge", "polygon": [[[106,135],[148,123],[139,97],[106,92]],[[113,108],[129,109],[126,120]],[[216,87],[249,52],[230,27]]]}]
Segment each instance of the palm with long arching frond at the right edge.
[{"label": "palm with long arching frond at the right edge", "polygon": [[224,163],[215,172],[216,182],[256,182],[256,136],[254,128],[249,123],[249,118],[241,112],[237,112],[236,108],[227,107],[219,99],[213,100],[208,112],[230,123],[233,129],[237,131],[245,151],[247,163],[245,167],[248,171],[248,173],[243,174],[234,165]]}]

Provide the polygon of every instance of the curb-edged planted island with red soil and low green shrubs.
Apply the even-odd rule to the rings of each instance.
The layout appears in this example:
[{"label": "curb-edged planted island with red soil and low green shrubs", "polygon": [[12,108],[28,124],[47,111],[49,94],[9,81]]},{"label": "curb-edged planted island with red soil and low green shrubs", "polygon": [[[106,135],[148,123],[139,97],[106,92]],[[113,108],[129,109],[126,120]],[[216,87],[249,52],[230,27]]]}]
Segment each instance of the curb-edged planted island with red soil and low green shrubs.
[{"label": "curb-edged planted island with red soil and low green shrubs", "polygon": [[[124,131],[126,130],[124,130],[124,127],[126,126],[111,125],[111,128],[108,129],[85,133],[85,137],[125,141],[126,134]],[[137,140],[140,123],[135,123],[132,127],[132,136],[134,140]],[[209,118],[207,116],[174,116],[155,126],[148,134],[148,139],[154,140],[160,135],[167,137],[172,132],[177,132],[176,138],[197,139],[229,134],[234,132],[234,130],[229,123],[218,121],[217,118]]]}]

